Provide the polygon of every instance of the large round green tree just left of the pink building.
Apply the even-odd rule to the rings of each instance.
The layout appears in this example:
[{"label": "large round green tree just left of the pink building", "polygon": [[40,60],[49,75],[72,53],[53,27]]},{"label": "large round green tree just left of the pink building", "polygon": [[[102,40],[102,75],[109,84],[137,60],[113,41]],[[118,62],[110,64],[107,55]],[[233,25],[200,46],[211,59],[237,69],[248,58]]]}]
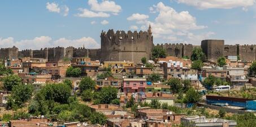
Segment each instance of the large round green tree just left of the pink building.
[{"label": "large round green tree just left of the pink building", "polygon": [[118,89],[114,87],[103,87],[99,92],[101,103],[111,103],[118,96]]}]

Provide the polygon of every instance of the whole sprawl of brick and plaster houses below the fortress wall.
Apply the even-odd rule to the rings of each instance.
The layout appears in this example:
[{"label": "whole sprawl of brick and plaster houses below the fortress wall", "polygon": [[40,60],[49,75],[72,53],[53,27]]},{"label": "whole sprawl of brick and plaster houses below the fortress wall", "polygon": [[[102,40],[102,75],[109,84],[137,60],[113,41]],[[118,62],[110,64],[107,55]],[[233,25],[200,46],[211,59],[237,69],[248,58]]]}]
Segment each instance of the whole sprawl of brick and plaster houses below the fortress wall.
[{"label": "whole sprawl of brick and plaster houses below the fortress wall", "polygon": [[[97,89],[111,86],[118,89],[120,106],[115,105],[91,105],[92,111],[105,114],[108,118],[106,126],[172,126],[184,123],[185,126],[235,126],[236,121],[222,119],[207,119],[205,116],[185,116],[175,114],[163,109],[151,109],[149,107],[137,107],[137,116],[124,111],[122,105],[133,97],[136,102],[150,103],[158,99],[161,103],[175,105],[175,97],[170,92],[170,86],[161,81],[152,83],[147,80],[151,74],[158,74],[161,79],[169,78],[187,79],[197,89],[202,89],[201,82],[210,75],[228,81],[232,88],[237,89],[244,85],[256,85],[255,78],[249,78],[248,68],[251,62],[237,60],[237,56],[228,56],[227,65],[216,66],[216,63],[204,62],[200,71],[192,69],[192,61],[183,58],[168,56],[158,58],[155,61],[147,61],[153,67],[145,64],[137,64],[132,61],[99,61],[90,60],[88,57],[72,58],[72,60],[48,61],[44,58],[24,57],[14,60],[5,60],[5,66],[14,74],[19,75],[25,84],[32,84],[35,90],[41,89],[47,83],[61,83],[64,79],[72,81],[73,89],[79,89],[81,77],[90,76],[96,81]],[[68,67],[79,67],[81,77],[66,77]],[[112,76],[105,79],[97,78],[109,68]],[[1,92],[1,106],[4,106],[9,92]],[[208,97],[209,98],[209,97]],[[214,97],[213,97],[214,98]],[[207,98],[206,98],[207,99]],[[251,101],[251,100],[249,100]],[[211,102],[201,106],[212,105]],[[33,120],[31,120],[33,121]],[[21,121],[19,121],[21,122]],[[33,121],[34,122],[34,121]],[[11,121],[15,123],[15,121]],[[40,122],[39,122],[40,123]],[[44,120],[42,123],[46,123]],[[18,126],[18,125],[16,125]],[[66,123],[66,126],[99,126],[86,123]]]}]

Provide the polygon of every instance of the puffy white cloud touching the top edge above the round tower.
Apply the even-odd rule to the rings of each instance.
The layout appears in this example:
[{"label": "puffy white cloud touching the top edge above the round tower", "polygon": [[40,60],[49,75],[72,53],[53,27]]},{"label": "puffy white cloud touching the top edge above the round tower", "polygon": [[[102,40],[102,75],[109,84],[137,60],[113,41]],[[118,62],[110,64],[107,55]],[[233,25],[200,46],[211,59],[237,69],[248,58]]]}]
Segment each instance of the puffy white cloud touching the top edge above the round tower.
[{"label": "puffy white cloud touching the top edge above the round tower", "polygon": [[116,14],[122,10],[122,7],[116,4],[114,1],[102,1],[102,3],[98,3],[97,0],[89,0],[88,4],[93,11],[114,12]]}]

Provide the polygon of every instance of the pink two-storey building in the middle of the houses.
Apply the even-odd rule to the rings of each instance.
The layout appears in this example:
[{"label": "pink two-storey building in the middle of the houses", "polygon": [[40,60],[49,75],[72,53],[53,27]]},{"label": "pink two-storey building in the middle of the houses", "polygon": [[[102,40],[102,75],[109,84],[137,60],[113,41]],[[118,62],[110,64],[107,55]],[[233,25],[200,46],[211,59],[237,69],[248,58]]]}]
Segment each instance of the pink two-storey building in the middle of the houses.
[{"label": "pink two-storey building in the middle of the houses", "polygon": [[123,79],[123,88],[125,93],[145,92],[145,78]]}]

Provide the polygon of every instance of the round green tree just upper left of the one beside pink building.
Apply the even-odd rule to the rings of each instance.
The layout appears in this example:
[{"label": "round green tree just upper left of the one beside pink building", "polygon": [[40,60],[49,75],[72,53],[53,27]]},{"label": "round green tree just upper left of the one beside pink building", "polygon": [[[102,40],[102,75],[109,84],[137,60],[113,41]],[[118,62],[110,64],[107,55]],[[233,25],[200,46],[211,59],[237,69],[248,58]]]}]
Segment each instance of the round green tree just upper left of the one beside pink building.
[{"label": "round green tree just upper left of the one beside pink building", "polygon": [[95,89],[95,81],[92,80],[90,77],[83,78],[79,83],[79,88],[81,90],[81,93],[83,93],[84,90],[93,90]]}]

